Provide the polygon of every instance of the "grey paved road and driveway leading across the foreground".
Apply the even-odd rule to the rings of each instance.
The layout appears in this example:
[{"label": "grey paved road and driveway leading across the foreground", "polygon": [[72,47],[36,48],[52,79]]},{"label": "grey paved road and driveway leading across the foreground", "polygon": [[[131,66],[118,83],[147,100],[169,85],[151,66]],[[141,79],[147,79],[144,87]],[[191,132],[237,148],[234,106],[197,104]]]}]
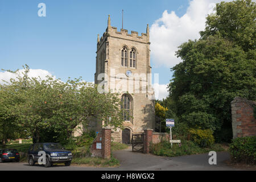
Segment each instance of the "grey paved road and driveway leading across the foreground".
[{"label": "grey paved road and driveway leading across the foreground", "polygon": [[43,166],[28,166],[27,163],[0,163],[0,171],[4,170],[31,170],[31,171],[112,171],[112,170],[131,170],[131,171],[150,171],[150,170],[237,170],[226,166],[225,160],[230,158],[228,152],[217,152],[217,165],[209,165],[208,154],[179,156],[167,158],[162,156],[146,155],[131,152],[130,148],[122,151],[114,152],[115,158],[119,159],[119,167],[95,168],[84,166],[53,166],[45,168]]}]

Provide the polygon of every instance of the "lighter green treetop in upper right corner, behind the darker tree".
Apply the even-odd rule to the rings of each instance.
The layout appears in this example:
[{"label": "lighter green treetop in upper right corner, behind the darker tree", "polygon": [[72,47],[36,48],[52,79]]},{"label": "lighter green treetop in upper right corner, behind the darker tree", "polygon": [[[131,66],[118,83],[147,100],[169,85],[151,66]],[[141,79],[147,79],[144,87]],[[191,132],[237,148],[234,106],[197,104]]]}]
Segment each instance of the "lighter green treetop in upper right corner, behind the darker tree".
[{"label": "lighter green treetop in upper right corner, behind the darker tree", "polygon": [[256,6],[251,0],[221,2],[216,4],[216,13],[207,16],[206,27],[200,34],[202,38],[220,34],[242,47],[255,49]]}]

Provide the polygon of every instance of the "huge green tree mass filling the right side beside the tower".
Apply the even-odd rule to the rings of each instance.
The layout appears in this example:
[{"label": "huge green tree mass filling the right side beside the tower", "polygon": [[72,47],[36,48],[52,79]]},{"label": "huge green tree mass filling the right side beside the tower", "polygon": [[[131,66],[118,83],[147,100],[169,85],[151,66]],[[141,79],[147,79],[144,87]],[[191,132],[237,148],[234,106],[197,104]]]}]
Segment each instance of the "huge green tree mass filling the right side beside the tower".
[{"label": "huge green tree mass filling the right side beside the tower", "polygon": [[217,140],[228,141],[230,102],[236,96],[256,99],[255,3],[217,4],[200,34],[176,52],[183,62],[172,68],[170,97],[179,121],[211,129]]}]

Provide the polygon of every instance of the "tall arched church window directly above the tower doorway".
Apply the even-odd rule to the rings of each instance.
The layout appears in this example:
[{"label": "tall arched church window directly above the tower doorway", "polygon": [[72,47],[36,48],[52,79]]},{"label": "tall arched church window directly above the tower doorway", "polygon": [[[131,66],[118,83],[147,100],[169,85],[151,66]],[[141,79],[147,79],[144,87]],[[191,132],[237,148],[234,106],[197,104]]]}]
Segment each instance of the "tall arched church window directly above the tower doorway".
[{"label": "tall arched church window directly above the tower doorway", "polygon": [[121,98],[121,109],[123,110],[123,120],[131,121],[131,116],[133,114],[133,103],[127,94],[123,94]]}]

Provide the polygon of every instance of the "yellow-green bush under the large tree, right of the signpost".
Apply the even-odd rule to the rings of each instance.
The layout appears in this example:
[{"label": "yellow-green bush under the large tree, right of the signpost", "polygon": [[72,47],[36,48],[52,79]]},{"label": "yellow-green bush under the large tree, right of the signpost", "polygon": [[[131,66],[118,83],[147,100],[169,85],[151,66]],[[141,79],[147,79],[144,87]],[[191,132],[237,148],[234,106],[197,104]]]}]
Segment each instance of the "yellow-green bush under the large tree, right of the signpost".
[{"label": "yellow-green bush under the large tree, right of the signpost", "polygon": [[210,129],[190,129],[192,140],[200,147],[209,147],[214,143],[213,131]]}]

